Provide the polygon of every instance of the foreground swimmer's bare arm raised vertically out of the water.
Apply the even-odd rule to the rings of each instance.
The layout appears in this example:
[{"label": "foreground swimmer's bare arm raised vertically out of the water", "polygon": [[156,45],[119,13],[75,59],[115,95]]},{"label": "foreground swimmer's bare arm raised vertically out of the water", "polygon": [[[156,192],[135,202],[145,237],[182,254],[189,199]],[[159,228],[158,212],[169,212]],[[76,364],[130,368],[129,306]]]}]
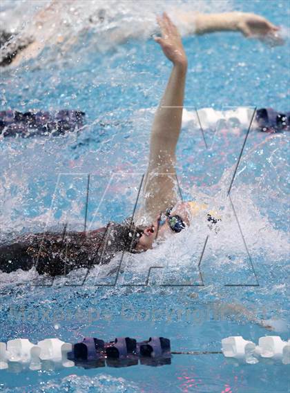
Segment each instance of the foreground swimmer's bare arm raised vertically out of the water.
[{"label": "foreground swimmer's bare arm raised vertically out of the water", "polygon": [[144,195],[147,215],[154,217],[177,201],[175,192],[175,147],[182,126],[182,109],[187,58],[180,33],[164,13],[157,18],[162,37],[155,38],[173,69],[164,95],[155,113],[150,141],[148,171]]}]

